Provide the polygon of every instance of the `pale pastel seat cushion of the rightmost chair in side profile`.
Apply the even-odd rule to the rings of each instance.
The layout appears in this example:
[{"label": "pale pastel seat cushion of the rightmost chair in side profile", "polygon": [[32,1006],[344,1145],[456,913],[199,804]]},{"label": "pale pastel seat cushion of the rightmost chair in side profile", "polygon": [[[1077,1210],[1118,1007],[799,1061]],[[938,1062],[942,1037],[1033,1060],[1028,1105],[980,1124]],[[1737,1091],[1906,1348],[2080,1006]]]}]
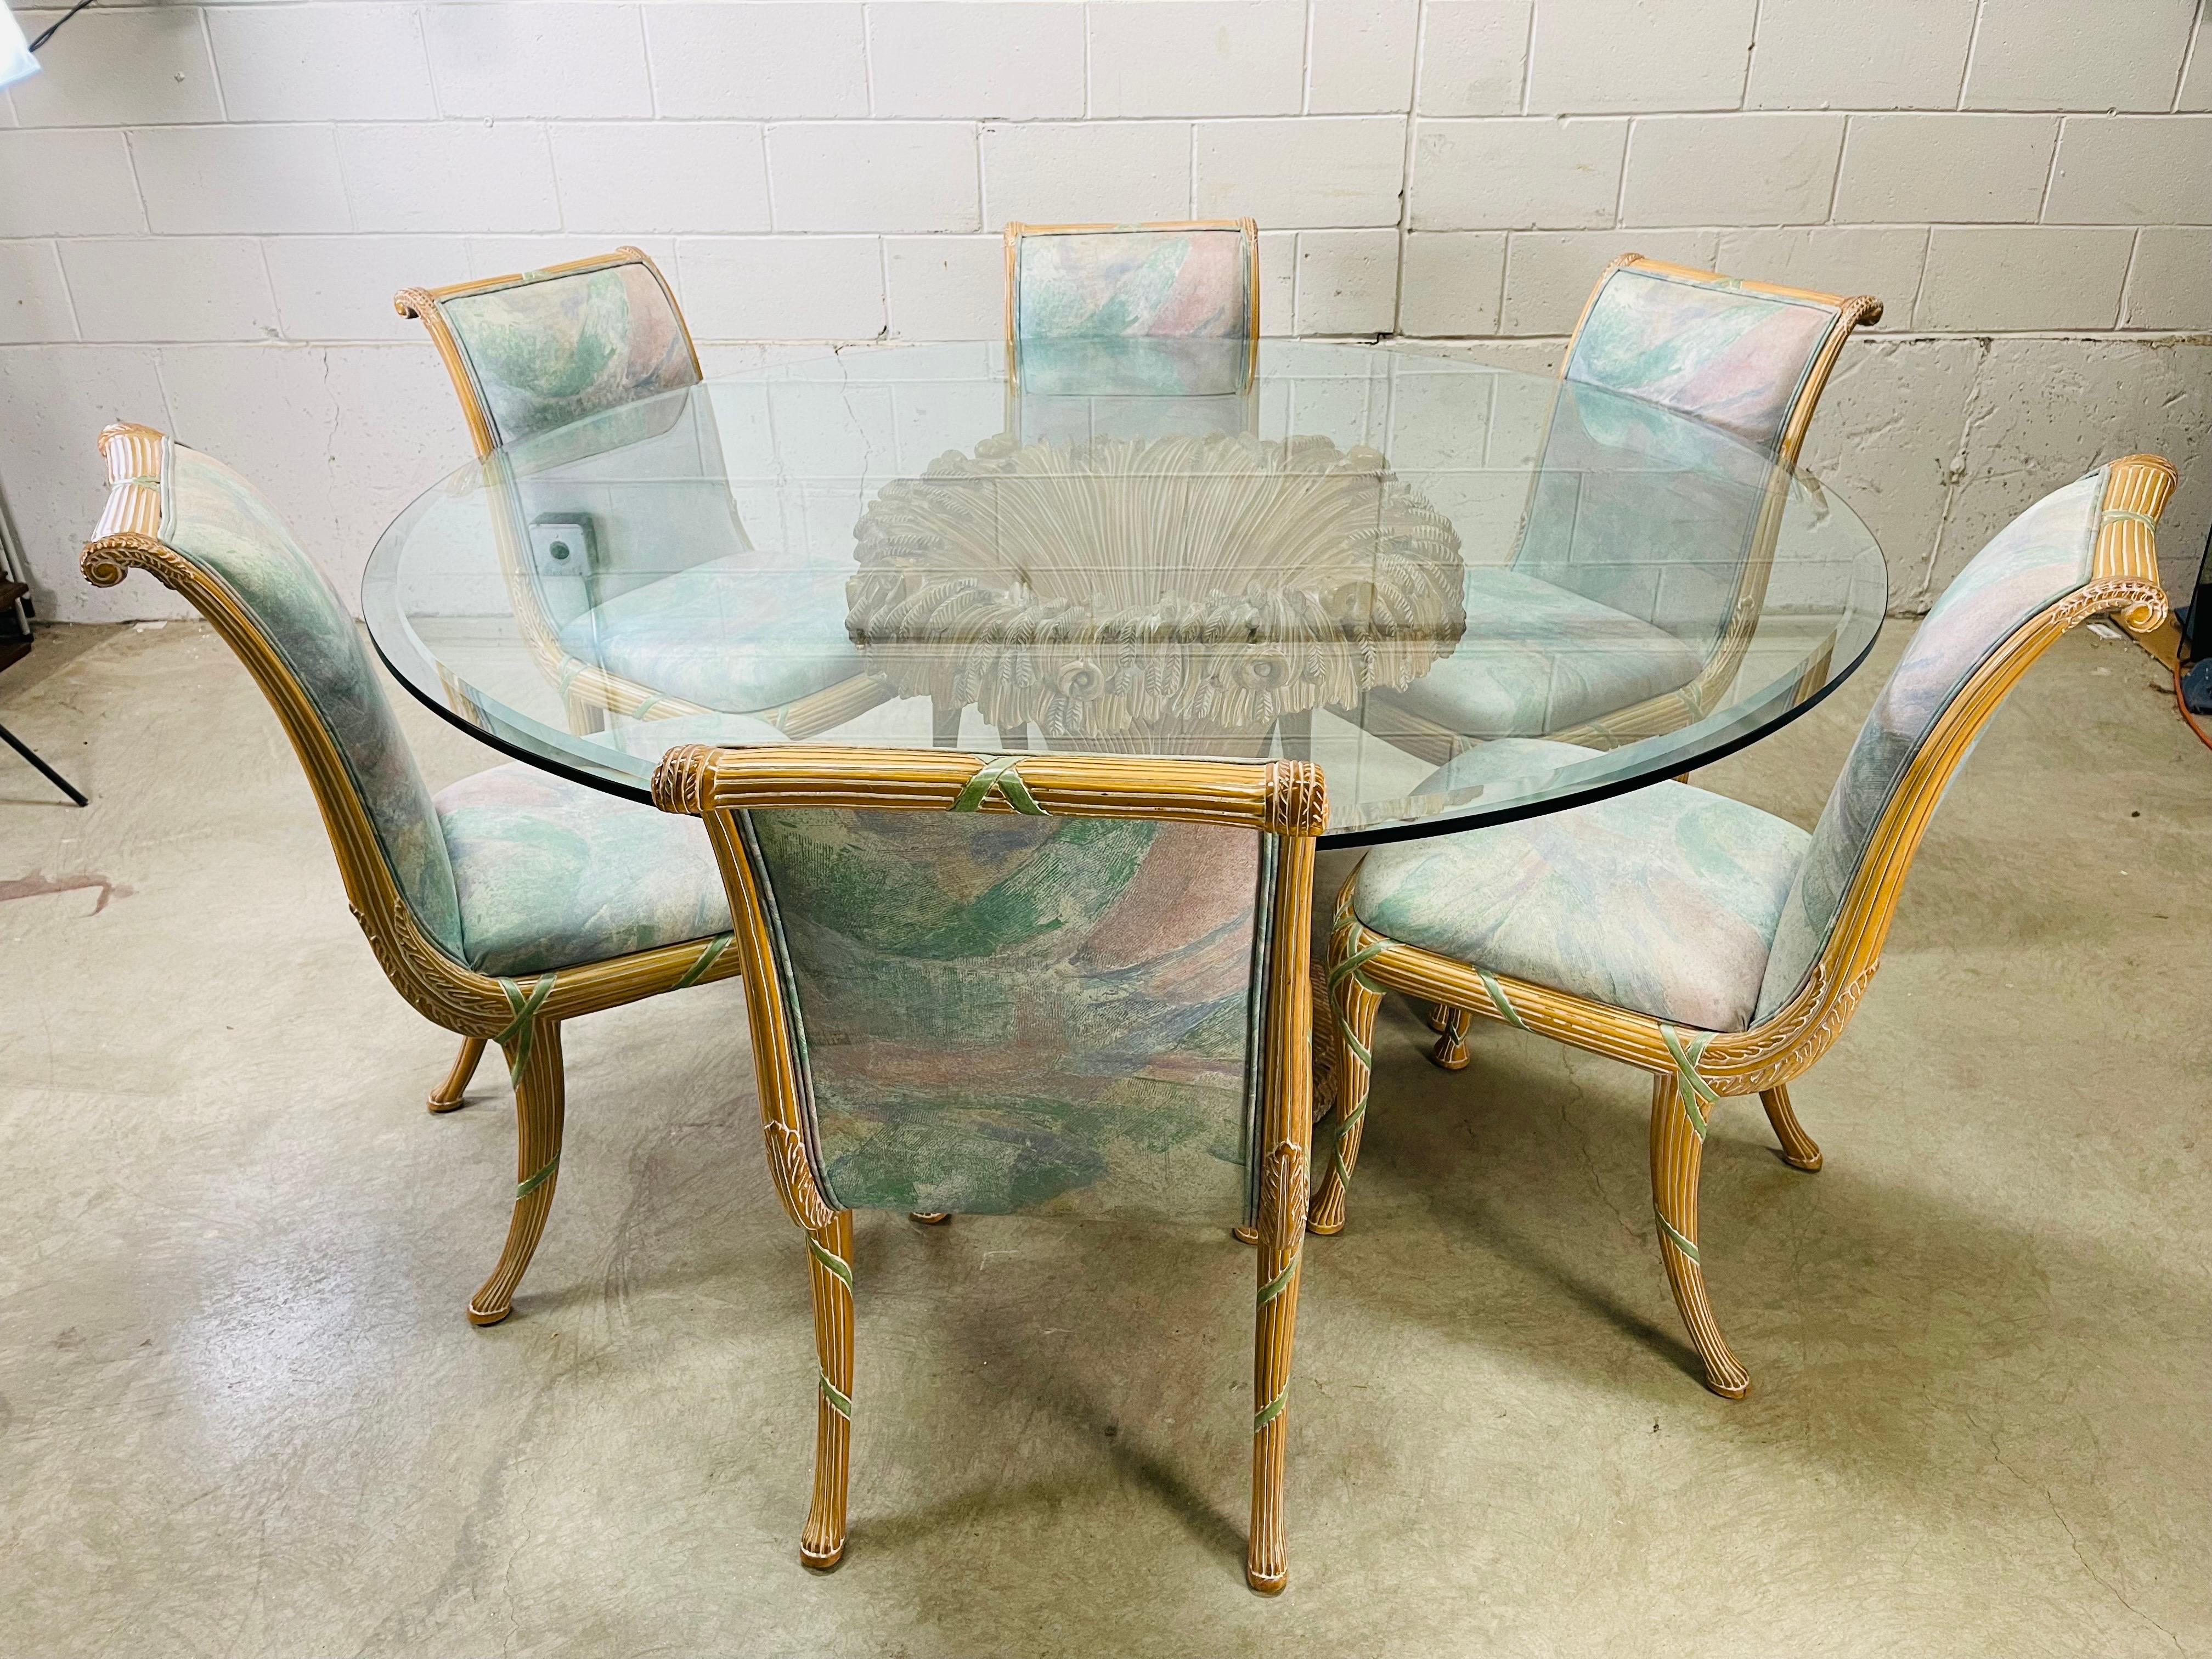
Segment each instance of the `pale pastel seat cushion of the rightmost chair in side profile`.
[{"label": "pale pastel seat cushion of the rightmost chair in side profile", "polygon": [[[1431,794],[1595,754],[1504,739]],[[1544,818],[1376,847],[1354,911],[1405,945],[1701,1031],[1743,1031],[1812,838],[1688,783]]]}]

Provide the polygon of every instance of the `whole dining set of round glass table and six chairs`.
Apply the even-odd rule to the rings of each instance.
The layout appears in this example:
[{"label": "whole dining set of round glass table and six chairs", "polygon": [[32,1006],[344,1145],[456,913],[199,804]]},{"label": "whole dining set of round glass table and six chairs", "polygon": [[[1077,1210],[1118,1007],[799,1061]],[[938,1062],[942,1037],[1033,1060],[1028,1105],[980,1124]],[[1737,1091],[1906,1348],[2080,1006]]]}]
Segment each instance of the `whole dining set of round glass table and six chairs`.
[{"label": "whole dining set of round glass table and six chairs", "polygon": [[[845,1553],[854,1210],[1254,1250],[1248,1582],[1287,1582],[1307,1239],[1352,1219],[1387,993],[1652,1079],[1657,1248],[1705,1385],[1714,1113],[1863,1000],[1975,737],[2073,626],[2166,617],[2174,469],[2108,460],[1913,630],[1807,830],[1688,781],[1874,648],[1882,553],[1798,467],[1880,303],[1628,254],[1555,376],[1267,338],[1245,221],[1009,226],[1000,341],[708,376],[635,248],[396,299],[473,460],[358,613],[223,462],[100,438],[142,568],[265,692],[394,989],[515,1099],[495,1325],[549,1223],[562,1029],[739,978],[818,1352],[801,1559]],[[431,792],[369,655],[507,759]],[[1312,960],[1316,849],[1363,849]],[[639,1079],[644,1082],[644,1079]],[[1223,1245],[1228,1248],[1228,1245]]]}]

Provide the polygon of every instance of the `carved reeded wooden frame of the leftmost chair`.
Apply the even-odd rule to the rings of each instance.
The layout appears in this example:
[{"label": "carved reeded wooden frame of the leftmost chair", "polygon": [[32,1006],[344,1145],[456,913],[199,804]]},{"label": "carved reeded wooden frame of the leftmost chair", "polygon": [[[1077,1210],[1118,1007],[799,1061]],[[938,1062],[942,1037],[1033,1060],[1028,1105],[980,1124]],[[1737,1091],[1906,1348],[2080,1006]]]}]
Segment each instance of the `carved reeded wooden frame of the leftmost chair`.
[{"label": "carved reeded wooden frame of the leftmost chair", "polygon": [[473,1325],[498,1325],[511,1312],[515,1285],[538,1250],[560,1177],[566,1113],[562,1024],[661,991],[734,975],[739,964],[728,953],[730,936],[661,945],[515,980],[478,973],[440,951],[416,925],[385,863],[361,790],[305,688],[230,588],[161,542],[161,487],[155,480],[164,442],[159,431],[139,425],[113,425],[100,434],[108,502],[84,546],[84,580],[111,588],[131,568],[150,573],[215,626],[270,699],[307,772],[330,832],[330,849],[338,858],[347,907],[361,922],[376,964],[425,1020],[460,1035],[460,1060],[447,1084],[431,1095],[431,1110],[460,1104],[487,1042],[500,1044],[507,1055],[518,1128],[513,1210],[500,1261],[469,1298]]}]

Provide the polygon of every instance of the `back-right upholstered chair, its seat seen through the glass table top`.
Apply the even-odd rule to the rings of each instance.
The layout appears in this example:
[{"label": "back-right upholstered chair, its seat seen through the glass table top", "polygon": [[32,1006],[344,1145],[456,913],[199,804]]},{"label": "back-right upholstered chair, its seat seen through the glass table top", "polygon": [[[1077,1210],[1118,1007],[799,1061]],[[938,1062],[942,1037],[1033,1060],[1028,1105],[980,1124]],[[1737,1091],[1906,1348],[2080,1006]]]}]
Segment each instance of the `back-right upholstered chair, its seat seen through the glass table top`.
[{"label": "back-right upholstered chair, its seat seen through the glass table top", "polygon": [[1369,695],[1391,741],[1442,763],[1469,739],[1615,748],[1708,714],[1756,633],[1820,389],[1880,316],[1871,296],[1613,261],[1559,365],[1513,562],[1469,566],[1453,657]]}]

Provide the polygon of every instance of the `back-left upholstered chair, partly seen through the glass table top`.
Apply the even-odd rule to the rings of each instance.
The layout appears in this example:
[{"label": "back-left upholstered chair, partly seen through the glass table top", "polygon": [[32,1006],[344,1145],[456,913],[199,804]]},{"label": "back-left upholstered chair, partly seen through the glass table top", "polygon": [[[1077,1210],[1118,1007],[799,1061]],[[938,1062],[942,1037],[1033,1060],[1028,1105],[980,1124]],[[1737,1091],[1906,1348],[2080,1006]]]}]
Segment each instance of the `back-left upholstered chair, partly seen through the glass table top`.
[{"label": "back-left upholstered chair, partly seen through the glass table top", "polygon": [[[684,480],[721,478],[721,438],[706,400],[650,403],[699,385],[699,352],[675,292],[637,248],[575,259],[566,265],[489,276],[449,288],[403,288],[392,305],[429,330],[460,396],[476,453],[491,458],[507,445],[573,427],[580,447],[613,449],[664,445],[670,473]],[[622,411],[635,418],[613,427]],[[624,553],[648,568],[648,580],[619,580],[599,568],[597,582],[580,580],[577,560],[542,568],[529,526],[549,507],[573,507],[593,518],[595,491],[562,495],[557,476],[507,482],[507,520],[500,564],[524,641],[542,672],[562,690],[571,726],[595,732],[604,714],[686,719],[741,710],[790,737],[812,737],[843,726],[885,701],[891,690],[860,672],[847,648],[816,657],[745,653],[748,637],[790,633],[792,608],[810,611],[796,633],[843,641],[845,575],[794,582],[790,571],[761,573],[732,502],[719,518],[692,513],[684,522],[613,524],[597,511],[613,542],[626,533],[635,549],[586,549],[584,562],[611,566]],[[701,504],[697,491],[653,498],[659,511],[677,502]],[[633,498],[630,507],[637,504]],[[611,580],[615,577],[615,580]],[[653,580],[657,577],[657,580]],[[599,591],[624,591],[599,602]],[[668,650],[670,615],[712,606],[714,615],[743,617],[754,630],[732,637],[726,653]],[[686,630],[672,630],[679,639]]]}]

